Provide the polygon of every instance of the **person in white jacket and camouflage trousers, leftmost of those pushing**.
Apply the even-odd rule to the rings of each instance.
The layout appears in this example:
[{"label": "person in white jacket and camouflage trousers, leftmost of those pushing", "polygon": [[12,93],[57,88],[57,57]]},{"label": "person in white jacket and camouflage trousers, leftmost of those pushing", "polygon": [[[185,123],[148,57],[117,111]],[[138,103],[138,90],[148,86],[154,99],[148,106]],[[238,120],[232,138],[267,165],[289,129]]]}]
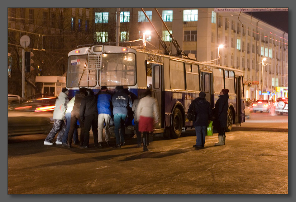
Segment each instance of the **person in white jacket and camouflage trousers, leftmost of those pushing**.
[{"label": "person in white jacket and camouflage trousers, leftmost of those pushing", "polygon": [[57,145],[62,144],[62,138],[66,130],[64,119],[65,119],[65,111],[67,109],[67,104],[69,102],[68,95],[69,95],[69,90],[66,88],[63,88],[62,92],[60,92],[58,96],[58,99],[56,99],[55,101],[55,110],[53,113],[54,125],[52,126],[51,131],[45,138],[43,142],[44,145],[53,145],[51,141],[54,139],[57,132],[59,132],[59,134],[56,138],[55,144]]}]

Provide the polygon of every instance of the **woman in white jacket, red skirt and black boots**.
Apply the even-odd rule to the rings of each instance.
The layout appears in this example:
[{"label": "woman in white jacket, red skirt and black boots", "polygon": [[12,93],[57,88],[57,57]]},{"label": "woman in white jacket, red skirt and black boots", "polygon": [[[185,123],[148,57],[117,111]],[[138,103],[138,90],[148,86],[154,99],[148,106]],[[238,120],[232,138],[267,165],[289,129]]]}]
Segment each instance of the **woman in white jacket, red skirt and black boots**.
[{"label": "woman in white jacket, red skirt and black boots", "polygon": [[[143,151],[148,151],[147,132],[151,132],[154,129],[154,124],[158,123],[159,110],[157,100],[152,97],[151,89],[148,89],[143,96],[137,106],[136,119],[138,120],[135,121],[139,122],[139,131],[143,138]],[[144,132],[145,134],[143,135]]]}]

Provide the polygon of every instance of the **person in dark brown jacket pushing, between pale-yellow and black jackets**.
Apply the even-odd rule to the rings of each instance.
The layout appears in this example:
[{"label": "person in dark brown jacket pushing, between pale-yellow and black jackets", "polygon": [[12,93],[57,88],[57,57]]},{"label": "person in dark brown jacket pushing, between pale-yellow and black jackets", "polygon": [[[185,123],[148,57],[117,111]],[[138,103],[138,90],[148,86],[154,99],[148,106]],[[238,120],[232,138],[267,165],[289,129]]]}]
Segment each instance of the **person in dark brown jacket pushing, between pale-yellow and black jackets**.
[{"label": "person in dark brown jacket pushing, between pale-yellow and black jackets", "polygon": [[80,119],[79,109],[80,109],[81,100],[85,98],[86,89],[87,88],[84,88],[84,87],[79,88],[79,93],[75,95],[74,105],[73,105],[71,118],[70,118],[70,129],[68,133],[68,141],[67,141],[68,148],[70,148],[72,145],[74,130],[75,128],[77,128],[77,120],[79,121],[79,125],[81,127],[80,144],[83,144],[83,141],[84,141],[84,123]]}]

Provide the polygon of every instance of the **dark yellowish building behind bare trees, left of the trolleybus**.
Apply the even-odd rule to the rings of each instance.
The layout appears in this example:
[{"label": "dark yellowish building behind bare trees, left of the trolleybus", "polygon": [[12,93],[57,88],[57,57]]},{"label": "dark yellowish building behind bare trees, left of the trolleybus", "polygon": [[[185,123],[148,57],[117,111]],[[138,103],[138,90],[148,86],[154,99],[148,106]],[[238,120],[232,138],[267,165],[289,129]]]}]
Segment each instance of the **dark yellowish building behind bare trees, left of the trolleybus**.
[{"label": "dark yellowish building behind bare trees, left of the trolleybus", "polygon": [[[35,76],[63,76],[69,51],[93,43],[93,19],[93,8],[8,8],[8,53],[12,62],[8,94],[21,95],[21,36],[30,37],[25,51],[34,54],[31,71],[25,73],[25,97],[29,97],[42,91]],[[54,91],[60,86],[59,82],[46,84]]]}]

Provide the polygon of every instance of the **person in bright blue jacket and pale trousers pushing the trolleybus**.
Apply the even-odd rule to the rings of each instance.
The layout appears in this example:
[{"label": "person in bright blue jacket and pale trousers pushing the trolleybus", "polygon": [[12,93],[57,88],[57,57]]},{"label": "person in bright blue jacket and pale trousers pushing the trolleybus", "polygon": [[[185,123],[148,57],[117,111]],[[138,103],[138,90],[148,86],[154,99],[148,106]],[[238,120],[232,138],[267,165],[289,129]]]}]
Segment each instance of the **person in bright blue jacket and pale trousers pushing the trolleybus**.
[{"label": "person in bright blue jacket and pale trousers pushing the trolleybus", "polygon": [[98,93],[98,148],[102,148],[103,128],[105,124],[106,146],[110,146],[110,120],[112,116],[112,95],[108,93],[108,88],[102,86]]}]

